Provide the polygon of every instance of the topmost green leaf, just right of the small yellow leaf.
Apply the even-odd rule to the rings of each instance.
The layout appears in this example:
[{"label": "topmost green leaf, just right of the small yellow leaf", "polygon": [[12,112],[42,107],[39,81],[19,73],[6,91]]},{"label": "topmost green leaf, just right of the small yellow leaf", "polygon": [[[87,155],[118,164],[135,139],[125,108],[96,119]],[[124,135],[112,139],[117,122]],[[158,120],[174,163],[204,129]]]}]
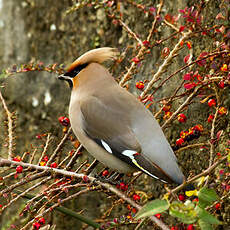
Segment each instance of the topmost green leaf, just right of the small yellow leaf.
[{"label": "topmost green leaf, just right of the small yellow leaf", "polygon": [[203,187],[198,192],[198,198],[199,198],[198,205],[202,208],[205,208],[208,205],[211,205],[219,197],[217,196],[214,189],[209,189],[209,188]]}]

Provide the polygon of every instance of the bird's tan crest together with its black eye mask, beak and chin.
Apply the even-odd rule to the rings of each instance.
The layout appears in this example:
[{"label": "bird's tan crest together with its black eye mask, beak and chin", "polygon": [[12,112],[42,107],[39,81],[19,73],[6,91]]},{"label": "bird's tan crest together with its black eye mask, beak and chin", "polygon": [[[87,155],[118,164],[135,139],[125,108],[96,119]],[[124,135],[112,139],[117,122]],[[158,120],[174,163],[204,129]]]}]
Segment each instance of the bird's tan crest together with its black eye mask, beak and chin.
[{"label": "bird's tan crest together with its black eye mask, beak and chin", "polygon": [[109,59],[114,59],[117,56],[117,49],[110,47],[103,47],[98,49],[93,49],[78,59],[76,59],[68,68],[67,71],[58,76],[59,80],[65,80],[69,83],[70,88],[73,88],[75,85],[75,80],[82,70],[86,69],[90,63],[102,63]]}]

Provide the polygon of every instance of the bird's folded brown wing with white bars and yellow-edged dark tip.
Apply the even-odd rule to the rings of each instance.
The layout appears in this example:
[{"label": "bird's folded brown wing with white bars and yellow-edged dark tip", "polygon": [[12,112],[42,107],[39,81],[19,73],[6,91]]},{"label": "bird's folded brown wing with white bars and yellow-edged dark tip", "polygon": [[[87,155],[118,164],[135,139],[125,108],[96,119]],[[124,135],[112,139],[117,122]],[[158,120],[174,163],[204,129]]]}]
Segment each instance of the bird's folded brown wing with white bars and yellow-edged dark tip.
[{"label": "bird's folded brown wing with white bars and yellow-edged dark tip", "polygon": [[113,101],[115,106],[104,104],[98,97],[81,100],[82,128],[89,138],[126,163],[163,182],[172,182],[169,176],[141,152],[142,149],[131,128],[125,110]]}]

